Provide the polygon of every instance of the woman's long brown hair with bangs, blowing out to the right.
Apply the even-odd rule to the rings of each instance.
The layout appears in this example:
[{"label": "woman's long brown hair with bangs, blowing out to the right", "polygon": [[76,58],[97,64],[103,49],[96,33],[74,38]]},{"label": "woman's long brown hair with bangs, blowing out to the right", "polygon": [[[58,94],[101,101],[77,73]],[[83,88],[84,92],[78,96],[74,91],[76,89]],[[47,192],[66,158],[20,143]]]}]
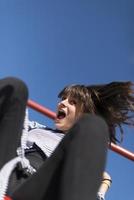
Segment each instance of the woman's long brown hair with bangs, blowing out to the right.
[{"label": "woman's long brown hair with bangs, blowing out to the right", "polygon": [[65,87],[59,98],[72,99],[79,112],[100,115],[107,122],[110,142],[119,142],[118,127],[123,135],[123,125],[134,126],[134,84],[111,82],[103,85],[71,85]]}]

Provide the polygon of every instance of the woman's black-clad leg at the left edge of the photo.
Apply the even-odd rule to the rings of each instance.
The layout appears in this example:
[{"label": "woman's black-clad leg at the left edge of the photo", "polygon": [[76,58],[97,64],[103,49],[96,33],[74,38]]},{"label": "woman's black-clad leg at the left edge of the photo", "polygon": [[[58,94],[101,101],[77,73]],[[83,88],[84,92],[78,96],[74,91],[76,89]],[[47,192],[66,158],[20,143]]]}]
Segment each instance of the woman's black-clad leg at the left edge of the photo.
[{"label": "woman's black-clad leg at the left edge of the photo", "polygon": [[20,142],[28,91],[16,78],[0,80],[0,169],[16,156]]}]

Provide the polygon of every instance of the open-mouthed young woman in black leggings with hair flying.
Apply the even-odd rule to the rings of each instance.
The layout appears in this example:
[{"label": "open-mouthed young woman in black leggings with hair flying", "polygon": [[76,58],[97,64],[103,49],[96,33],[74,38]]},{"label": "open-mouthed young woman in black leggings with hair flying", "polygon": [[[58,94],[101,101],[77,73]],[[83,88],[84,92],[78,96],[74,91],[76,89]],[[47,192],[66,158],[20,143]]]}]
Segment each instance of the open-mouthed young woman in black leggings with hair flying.
[{"label": "open-mouthed young woman in black leggings with hair flying", "polygon": [[134,124],[132,85],[65,87],[52,130],[23,127],[27,87],[0,80],[0,200],[96,200],[108,143],[118,140],[116,127]]}]

